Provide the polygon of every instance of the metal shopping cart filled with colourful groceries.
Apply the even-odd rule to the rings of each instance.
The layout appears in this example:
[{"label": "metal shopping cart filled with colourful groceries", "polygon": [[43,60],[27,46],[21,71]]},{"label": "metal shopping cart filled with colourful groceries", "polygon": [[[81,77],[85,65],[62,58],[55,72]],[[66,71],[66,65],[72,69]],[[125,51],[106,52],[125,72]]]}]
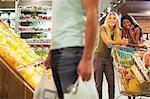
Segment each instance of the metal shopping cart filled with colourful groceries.
[{"label": "metal shopping cart filled with colourful groceries", "polygon": [[[127,46],[112,48],[113,63],[119,91],[125,96],[150,97],[150,58],[146,58],[146,49]],[[149,61],[145,61],[149,60]]]}]

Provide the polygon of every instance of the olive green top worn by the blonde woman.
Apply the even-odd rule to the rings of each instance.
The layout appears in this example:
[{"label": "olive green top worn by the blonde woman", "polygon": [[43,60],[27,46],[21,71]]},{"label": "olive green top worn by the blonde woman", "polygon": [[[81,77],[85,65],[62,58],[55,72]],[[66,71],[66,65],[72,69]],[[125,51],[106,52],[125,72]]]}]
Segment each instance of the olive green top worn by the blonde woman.
[{"label": "olive green top worn by the blonde woman", "polygon": [[[100,28],[100,33],[104,31],[107,33],[106,29],[104,26],[102,26]],[[110,58],[110,53],[111,53],[111,49],[108,48],[108,46],[104,43],[104,41],[102,40],[101,36],[99,36],[99,41],[98,41],[98,46],[95,50],[95,53],[99,54],[101,57],[103,58]]]}]

